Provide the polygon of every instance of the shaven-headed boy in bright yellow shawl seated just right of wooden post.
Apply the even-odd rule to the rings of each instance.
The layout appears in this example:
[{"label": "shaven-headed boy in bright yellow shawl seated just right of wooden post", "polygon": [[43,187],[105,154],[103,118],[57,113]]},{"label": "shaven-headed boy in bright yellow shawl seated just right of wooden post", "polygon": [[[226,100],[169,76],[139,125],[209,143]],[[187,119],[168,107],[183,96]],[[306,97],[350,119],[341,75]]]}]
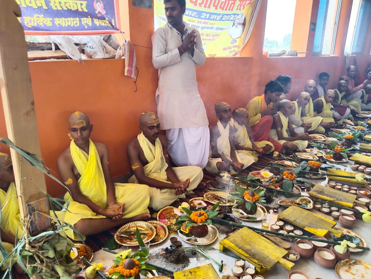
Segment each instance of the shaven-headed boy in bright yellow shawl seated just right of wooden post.
[{"label": "shaven-headed boy in bright yellow shawl seated just right of wooden post", "polygon": [[[120,224],[151,217],[148,210],[150,188],[147,185],[113,183],[108,163],[108,148],[90,139],[93,124],[88,115],[71,114],[72,141],[57,160],[62,181],[69,192],[64,220],[82,235],[95,234]],[[73,230],[66,234],[74,240]]]}]

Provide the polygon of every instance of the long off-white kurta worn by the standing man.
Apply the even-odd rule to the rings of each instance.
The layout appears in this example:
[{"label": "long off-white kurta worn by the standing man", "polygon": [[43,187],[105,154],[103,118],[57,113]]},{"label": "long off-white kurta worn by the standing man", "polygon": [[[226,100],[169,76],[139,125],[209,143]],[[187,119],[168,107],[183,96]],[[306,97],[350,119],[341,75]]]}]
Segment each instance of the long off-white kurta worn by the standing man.
[{"label": "long off-white kurta worn by the standing man", "polygon": [[161,129],[209,125],[196,81],[196,64],[202,66],[206,56],[198,30],[184,24],[187,33],[196,30],[193,57],[189,52],[179,56],[182,35],[169,23],[152,36],[152,63],[158,69],[159,78],[156,102]]}]

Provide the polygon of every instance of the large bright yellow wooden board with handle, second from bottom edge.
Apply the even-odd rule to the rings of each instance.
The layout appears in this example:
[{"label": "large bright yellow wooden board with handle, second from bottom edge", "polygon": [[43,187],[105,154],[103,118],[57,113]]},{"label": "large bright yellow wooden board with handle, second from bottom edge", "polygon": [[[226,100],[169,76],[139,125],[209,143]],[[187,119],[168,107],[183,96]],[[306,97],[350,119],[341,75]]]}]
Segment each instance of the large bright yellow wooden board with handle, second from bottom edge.
[{"label": "large bright yellow wooden board with handle, second from bottom edge", "polygon": [[289,270],[295,265],[283,258],[287,254],[287,250],[246,227],[222,239],[219,249],[228,249],[241,259],[247,260],[256,267],[259,274],[270,270],[276,263],[280,263]]}]

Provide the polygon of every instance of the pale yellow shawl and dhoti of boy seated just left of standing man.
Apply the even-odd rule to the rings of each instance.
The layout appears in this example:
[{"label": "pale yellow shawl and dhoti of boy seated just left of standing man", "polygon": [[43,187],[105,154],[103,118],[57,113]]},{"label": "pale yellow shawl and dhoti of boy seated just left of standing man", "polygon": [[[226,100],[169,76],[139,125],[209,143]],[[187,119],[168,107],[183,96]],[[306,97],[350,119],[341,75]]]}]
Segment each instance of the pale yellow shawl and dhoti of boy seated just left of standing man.
[{"label": "pale yellow shawl and dhoti of boy seated just left of standing man", "polygon": [[[156,139],[155,145],[153,145],[143,134],[138,135],[138,142],[141,146],[144,156],[148,161],[148,164],[145,165],[144,174],[147,177],[160,180],[163,182],[171,183],[167,179],[166,169],[168,164],[165,161],[164,152],[162,150],[162,144],[159,138]],[[203,171],[200,167],[197,166],[188,166],[188,167],[176,167],[173,168],[175,174],[177,175],[180,181],[185,181],[187,178],[190,179],[188,191],[195,189],[198,184],[200,184],[203,178]],[[138,183],[135,175],[129,178],[130,183]],[[161,208],[170,205],[173,201],[178,198],[184,198],[185,194],[176,196],[173,189],[159,189],[155,187],[150,187],[150,207],[154,210],[160,210]]]}]

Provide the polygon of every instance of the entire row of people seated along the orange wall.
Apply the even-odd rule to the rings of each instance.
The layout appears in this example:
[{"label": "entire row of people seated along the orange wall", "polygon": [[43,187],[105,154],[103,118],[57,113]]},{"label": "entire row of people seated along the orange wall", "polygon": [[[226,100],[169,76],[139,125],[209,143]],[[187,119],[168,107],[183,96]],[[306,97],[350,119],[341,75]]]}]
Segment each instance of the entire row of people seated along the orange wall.
[{"label": "entire row of people seated along the orange wall", "polygon": [[[225,102],[214,108],[218,121],[210,128],[210,155],[206,170],[238,173],[273,151],[292,152],[308,145],[308,133],[321,133],[363,109],[371,109],[371,70],[367,80],[355,87],[353,67],[341,76],[335,89],[326,89],[328,73],[319,84],[308,80],[295,101],[285,98],[291,78],[280,75],[269,81],[264,93],[252,98],[246,108],[233,109]],[[127,145],[132,177],[129,183],[114,183],[109,170],[108,148],[90,139],[93,130],[88,115],[74,112],[69,118],[70,146],[57,160],[60,177],[69,192],[68,211],[58,217],[82,235],[95,234],[134,220],[148,220],[154,210],[170,205],[195,189],[203,178],[197,166],[171,167],[167,139],[160,134],[154,112],[139,117],[140,134]],[[12,160],[0,153],[1,239],[12,248],[22,235]],[[18,228],[18,234],[17,234]],[[17,235],[16,235],[17,234]],[[79,240],[73,230],[68,237]]]}]

